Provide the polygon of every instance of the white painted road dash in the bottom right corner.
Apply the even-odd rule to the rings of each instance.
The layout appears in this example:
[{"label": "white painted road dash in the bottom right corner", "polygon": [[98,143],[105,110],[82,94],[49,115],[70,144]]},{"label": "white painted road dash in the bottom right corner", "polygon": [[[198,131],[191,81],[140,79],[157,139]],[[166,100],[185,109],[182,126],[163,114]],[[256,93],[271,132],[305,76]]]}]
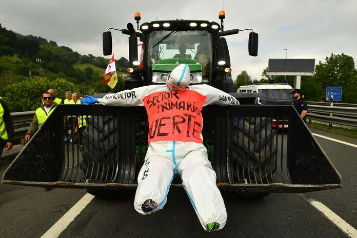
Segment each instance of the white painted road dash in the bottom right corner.
[{"label": "white painted road dash in the bottom right corner", "polygon": [[345,222],[340,216],[331,211],[324,204],[313,200],[307,199],[307,201],[320,212],[322,212],[328,220],[330,220],[334,225],[336,225],[340,230],[342,230],[346,235],[352,238],[357,238],[357,230],[354,229],[351,225]]}]

